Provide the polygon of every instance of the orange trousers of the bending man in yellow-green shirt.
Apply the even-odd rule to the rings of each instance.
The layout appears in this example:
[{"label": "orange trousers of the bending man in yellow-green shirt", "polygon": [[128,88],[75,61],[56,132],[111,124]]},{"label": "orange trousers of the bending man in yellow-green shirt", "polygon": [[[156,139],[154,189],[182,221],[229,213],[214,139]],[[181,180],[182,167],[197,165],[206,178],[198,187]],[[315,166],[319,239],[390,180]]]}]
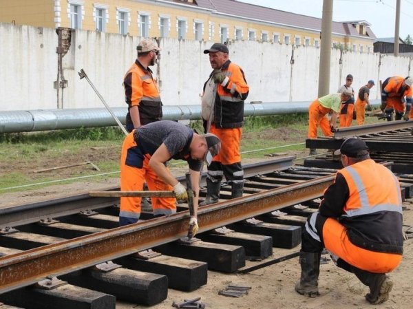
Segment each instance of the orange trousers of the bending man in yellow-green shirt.
[{"label": "orange trousers of the bending man in yellow-green shirt", "polygon": [[308,107],[308,138],[317,138],[317,128],[320,127],[324,136],[332,136],[327,114],[331,109],[323,107],[318,100]]}]

